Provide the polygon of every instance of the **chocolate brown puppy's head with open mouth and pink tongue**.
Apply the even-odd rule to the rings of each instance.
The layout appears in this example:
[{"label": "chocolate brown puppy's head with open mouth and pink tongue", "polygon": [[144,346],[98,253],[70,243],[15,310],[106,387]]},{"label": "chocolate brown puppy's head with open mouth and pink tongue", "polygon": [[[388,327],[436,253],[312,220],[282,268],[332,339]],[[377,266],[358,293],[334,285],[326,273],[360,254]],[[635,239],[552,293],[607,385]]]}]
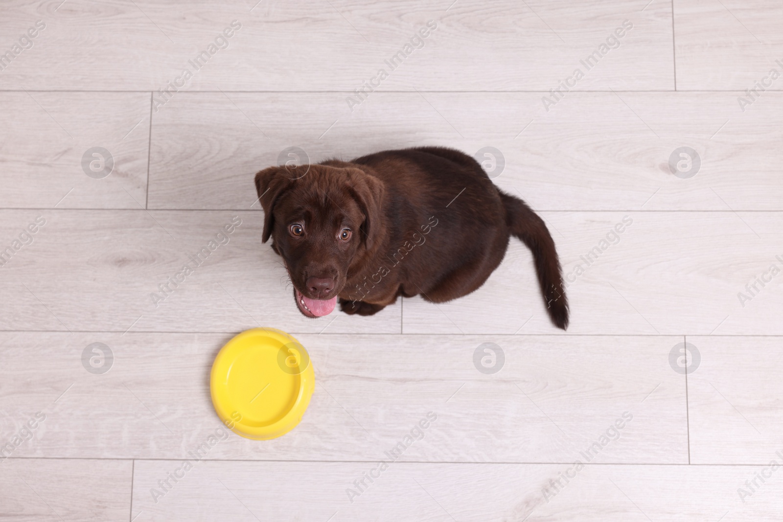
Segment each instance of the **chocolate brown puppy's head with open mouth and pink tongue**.
[{"label": "chocolate brown puppy's head with open mouth and pink tongue", "polygon": [[265,214],[262,241],[271,236],[283,257],[299,311],[329,314],[348,269],[382,235],[383,183],[348,164],[308,165],[266,168],[255,187]]}]

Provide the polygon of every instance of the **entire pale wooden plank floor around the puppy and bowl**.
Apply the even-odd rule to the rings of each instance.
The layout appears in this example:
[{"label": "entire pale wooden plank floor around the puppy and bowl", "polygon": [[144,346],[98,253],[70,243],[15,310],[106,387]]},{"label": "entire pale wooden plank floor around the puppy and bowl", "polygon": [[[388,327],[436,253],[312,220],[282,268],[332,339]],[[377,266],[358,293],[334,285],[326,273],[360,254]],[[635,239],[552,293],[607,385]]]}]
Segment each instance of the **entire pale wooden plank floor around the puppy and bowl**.
[{"label": "entire pale wooden plank floor around the puppy and bowl", "polygon": [[[0,267],[0,520],[783,519],[780,3],[452,2],[4,2],[0,250],[19,248]],[[254,172],[289,146],[317,161],[420,145],[502,152],[495,182],[547,220],[571,274],[568,333],[518,242],[453,303],[299,314],[261,244]],[[95,146],[106,178],[83,170]],[[682,146],[701,160],[690,178],[669,170]],[[235,216],[156,308],[158,283]],[[312,355],[301,425],[231,434],[153,499],[219,426],[216,352],[258,325]],[[81,364],[94,342],[114,353],[103,375]],[[493,375],[473,364],[486,342],[505,354]],[[700,356],[687,375],[670,365],[684,342]],[[424,438],[349,499],[428,412]]]}]

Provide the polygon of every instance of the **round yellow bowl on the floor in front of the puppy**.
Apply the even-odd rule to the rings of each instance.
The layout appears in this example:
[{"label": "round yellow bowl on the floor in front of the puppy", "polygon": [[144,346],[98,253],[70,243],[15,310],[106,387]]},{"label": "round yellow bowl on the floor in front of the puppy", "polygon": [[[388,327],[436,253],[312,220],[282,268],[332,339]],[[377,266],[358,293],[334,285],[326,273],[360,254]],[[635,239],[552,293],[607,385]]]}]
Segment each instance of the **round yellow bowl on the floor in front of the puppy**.
[{"label": "round yellow bowl on the floor in front of the puppy", "polygon": [[298,340],[273,328],[246,330],[222,347],[212,364],[212,405],[243,437],[266,440],[301,421],[316,376]]}]

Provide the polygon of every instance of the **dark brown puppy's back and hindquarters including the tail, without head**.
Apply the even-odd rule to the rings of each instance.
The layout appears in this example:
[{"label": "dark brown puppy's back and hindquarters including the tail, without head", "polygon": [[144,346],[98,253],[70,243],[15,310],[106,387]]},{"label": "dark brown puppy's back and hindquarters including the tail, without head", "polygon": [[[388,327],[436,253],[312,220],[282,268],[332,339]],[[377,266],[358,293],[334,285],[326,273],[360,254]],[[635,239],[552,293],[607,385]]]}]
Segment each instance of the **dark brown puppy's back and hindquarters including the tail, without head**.
[{"label": "dark brown puppy's back and hindquarters including the tail, without head", "polygon": [[[552,322],[568,326],[568,302],[554,240],[543,220],[524,201],[503,193],[474,158],[454,149],[389,150],[350,163],[369,167],[386,186],[391,226],[388,254],[434,217],[429,247],[412,250],[406,261],[404,295],[450,301],[478,289],[500,265],[509,236],[531,250],[540,290]],[[399,243],[399,244],[398,244]]]}]

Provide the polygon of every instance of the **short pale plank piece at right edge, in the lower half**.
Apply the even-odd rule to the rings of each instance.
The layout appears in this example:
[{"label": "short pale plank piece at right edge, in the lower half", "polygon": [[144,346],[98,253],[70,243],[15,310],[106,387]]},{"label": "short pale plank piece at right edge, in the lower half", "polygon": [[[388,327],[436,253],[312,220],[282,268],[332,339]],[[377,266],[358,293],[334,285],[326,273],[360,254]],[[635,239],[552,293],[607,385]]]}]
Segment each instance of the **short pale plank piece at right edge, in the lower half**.
[{"label": "short pale plank piece at right edge, in the lower half", "polygon": [[691,462],[783,461],[783,340],[695,336],[687,341],[701,356],[688,373]]}]

